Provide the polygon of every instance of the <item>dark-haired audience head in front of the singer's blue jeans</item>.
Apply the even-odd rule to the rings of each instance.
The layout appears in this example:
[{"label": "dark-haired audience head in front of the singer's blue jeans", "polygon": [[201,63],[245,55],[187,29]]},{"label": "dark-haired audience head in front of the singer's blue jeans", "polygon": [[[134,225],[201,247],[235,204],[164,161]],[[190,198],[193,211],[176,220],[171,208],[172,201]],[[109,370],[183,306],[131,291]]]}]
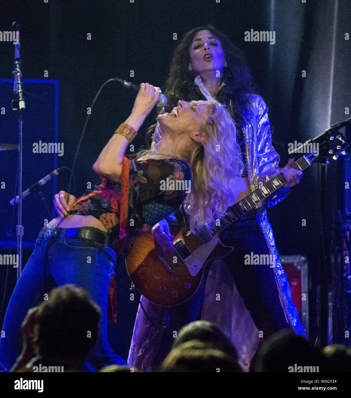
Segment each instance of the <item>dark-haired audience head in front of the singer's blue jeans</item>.
[{"label": "dark-haired audience head in front of the singer's blue jeans", "polygon": [[63,285],[39,304],[35,321],[37,356],[66,367],[81,366],[98,338],[100,308],[84,289]]}]

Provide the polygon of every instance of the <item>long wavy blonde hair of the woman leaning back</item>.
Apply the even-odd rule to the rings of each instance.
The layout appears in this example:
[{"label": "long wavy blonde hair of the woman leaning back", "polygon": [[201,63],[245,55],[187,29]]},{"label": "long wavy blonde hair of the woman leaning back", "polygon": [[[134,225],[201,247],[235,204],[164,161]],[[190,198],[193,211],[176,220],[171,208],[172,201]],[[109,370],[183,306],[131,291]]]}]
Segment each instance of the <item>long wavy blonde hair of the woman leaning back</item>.
[{"label": "long wavy blonde hair of the woman leaning back", "polygon": [[[226,106],[215,100],[196,103],[210,105],[210,112],[204,125],[205,143],[182,159],[192,172],[191,192],[184,201],[191,232],[223,217],[237,196],[233,178],[243,170],[235,124]],[[157,153],[160,142],[139,153],[143,157]]]}]

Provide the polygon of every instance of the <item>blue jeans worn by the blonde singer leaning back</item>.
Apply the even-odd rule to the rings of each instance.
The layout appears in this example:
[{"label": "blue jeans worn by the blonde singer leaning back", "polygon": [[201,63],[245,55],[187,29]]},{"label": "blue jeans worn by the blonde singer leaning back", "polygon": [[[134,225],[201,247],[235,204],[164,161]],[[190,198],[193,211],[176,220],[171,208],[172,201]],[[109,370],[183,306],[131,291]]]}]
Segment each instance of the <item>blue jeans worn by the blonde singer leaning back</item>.
[{"label": "blue jeans worn by the blonde singer leaning back", "polygon": [[88,363],[90,369],[125,364],[113,353],[107,337],[108,289],[116,267],[116,254],[107,246],[108,234],[100,231],[105,234],[103,245],[83,238],[65,238],[66,230],[58,228],[57,236],[50,239],[52,230],[42,228],[12,293],[2,327],[5,337],[0,339],[0,362],[8,371],[22,349],[21,324],[27,311],[43,301],[55,285],[66,283],[88,291],[101,308],[101,331]]}]

